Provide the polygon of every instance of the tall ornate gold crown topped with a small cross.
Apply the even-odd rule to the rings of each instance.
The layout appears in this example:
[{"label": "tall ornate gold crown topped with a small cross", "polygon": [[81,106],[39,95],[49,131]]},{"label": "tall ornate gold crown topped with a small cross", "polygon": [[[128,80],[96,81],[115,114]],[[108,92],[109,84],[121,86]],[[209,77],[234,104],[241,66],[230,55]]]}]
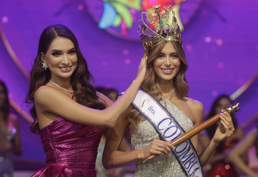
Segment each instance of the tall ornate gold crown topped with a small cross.
[{"label": "tall ornate gold crown topped with a small cross", "polygon": [[[138,20],[139,27],[137,28],[137,31],[140,35],[145,53],[148,53],[149,49],[154,49],[164,41],[176,41],[182,44],[180,28],[171,5],[168,7],[164,6],[165,10],[162,11],[159,8],[160,5],[153,6],[153,9],[156,9],[156,13],[151,13],[151,10],[148,13],[142,12],[142,19]],[[170,12],[172,12],[173,15],[171,25],[168,24],[171,18]],[[143,20],[143,14],[146,14],[147,20],[150,24],[155,26],[155,30],[152,30],[146,25]],[[141,21],[143,22],[142,25],[140,25]],[[141,28],[142,34],[139,32],[139,28]]]}]

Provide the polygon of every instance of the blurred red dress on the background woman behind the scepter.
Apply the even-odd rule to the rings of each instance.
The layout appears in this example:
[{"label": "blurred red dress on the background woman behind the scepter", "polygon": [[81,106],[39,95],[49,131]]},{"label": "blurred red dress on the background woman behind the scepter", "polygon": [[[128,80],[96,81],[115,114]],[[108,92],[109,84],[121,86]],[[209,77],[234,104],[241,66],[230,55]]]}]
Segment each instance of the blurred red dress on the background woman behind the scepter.
[{"label": "blurred red dress on the background woman behind the scepter", "polygon": [[[223,140],[221,142],[223,144],[223,151],[232,148],[237,142],[237,140],[230,140],[230,138]],[[219,154],[217,153],[217,155]],[[233,164],[219,160],[212,164],[211,170],[205,174],[205,177],[239,177],[239,175]]]}]

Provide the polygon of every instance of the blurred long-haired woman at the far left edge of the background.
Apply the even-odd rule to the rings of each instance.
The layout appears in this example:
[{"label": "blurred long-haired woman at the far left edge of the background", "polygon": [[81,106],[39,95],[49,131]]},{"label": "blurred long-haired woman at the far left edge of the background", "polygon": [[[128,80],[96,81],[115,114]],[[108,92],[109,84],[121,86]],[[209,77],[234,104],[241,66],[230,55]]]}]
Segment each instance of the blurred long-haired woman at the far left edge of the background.
[{"label": "blurred long-haired woman at the far left edge of the background", "polygon": [[11,177],[12,154],[21,155],[21,143],[17,117],[9,109],[8,92],[0,81],[0,176]]}]

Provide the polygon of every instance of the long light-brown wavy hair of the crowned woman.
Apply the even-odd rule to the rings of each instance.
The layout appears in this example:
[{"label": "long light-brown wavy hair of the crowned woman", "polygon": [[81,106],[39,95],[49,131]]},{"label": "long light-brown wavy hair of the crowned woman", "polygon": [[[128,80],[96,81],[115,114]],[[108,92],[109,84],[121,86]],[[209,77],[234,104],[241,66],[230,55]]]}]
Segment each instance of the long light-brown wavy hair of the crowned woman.
[{"label": "long light-brown wavy hair of the crowned woman", "polygon": [[[174,42],[174,41],[165,41],[162,44],[159,44],[157,47],[155,47],[153,50],[150,50],[148,53],[148,59],[147,59],[147,72],[146,76],[142,82],[141,88],[154,96],[157,100],[161,100],[162,92],[160,90],[155,89],[153,87],[153,84],[156,83],[156,73],[153,68],[153,61],[158,58],[158,55],[162,51],[164,45],[168,42],[171,42],[178,53],[178,56],[181,60],[180,62],[180,68],[178,73],[173,79],[173,85],[175,87],[175,92],[179,96],[179,98],[182,98],[186,96],[189,92],[189,86],[186,81],[186,70],[188,68],[188,64],[186,62],[186,56],[184,54],[184,50],[182,45],[179,42]],[[133,124],[135,127],[136,125],[142,121],[145,120],[143,116],[135,109],[133,109],[129,114],[128,114],[128,120],[131,124]]]}]

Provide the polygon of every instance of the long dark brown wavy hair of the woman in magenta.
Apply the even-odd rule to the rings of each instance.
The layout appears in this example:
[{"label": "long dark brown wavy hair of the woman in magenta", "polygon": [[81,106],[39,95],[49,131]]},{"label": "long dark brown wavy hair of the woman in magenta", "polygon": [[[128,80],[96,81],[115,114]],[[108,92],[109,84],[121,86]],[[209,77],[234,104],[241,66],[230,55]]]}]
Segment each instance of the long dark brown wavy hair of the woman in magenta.
[{"label": "long dark brown wavy hair of the woman in magenta", "polygon": [[75,35],[64,25],[51,25],[44,29],[39,38],[38,53],[37,57],[34,59],[34,64],[30,72],[30,87],[25,101],[26,103],[33,105],[30,109],[30,114],[34,119],[34,122],[30,126],[30,131],[34,133],[39,132],[36,108],[34,104],[34,94],[40,86],[46,85],[47,82],[49,82],[48,80],[51,78],[50,70],[48,68],[47,70],[42,68],[42,61],[40,58],[41,52],[46,54],[50,44],[58,36],[70,39],[74,43],[76,50],[78,65],[74,73],[71,75],[71,85],[75,90],[72,98],[76,98],[75,100],[77,103],[93,109],[102,110],[105,109],[106,106],[104,103],[99,101],[96,90],[93,86],[94,78],[90,71],[88,71],[87,62],[79,49]]}]

